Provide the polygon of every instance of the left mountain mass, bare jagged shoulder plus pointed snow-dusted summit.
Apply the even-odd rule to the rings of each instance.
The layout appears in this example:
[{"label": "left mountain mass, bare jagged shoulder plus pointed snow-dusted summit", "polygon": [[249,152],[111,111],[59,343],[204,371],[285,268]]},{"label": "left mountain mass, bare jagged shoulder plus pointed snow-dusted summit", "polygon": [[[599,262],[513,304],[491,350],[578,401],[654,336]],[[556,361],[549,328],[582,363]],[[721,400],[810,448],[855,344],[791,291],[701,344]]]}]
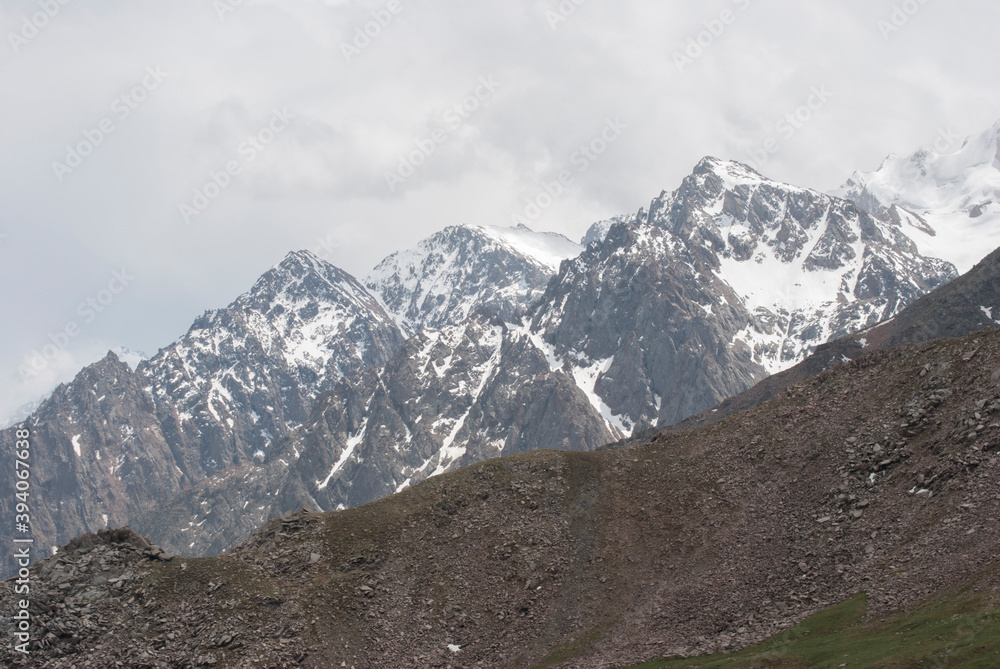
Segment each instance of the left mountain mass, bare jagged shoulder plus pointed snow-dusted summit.
[{"label": "left mountain mass, bare jagged shoulder plus pointed snow-dusted summit", "polygon": [[[128,522],[206,477],[262,462],[320,393],[384,364],[402,342],[355,279],[308,252],[289,254],[134,372],[109,353],[25,421],[36,543]],[[13,452],[11,428],[0,432],[9,471]],[[11,517],[13,486],[13,477],[0,482],[0,510]]]}]

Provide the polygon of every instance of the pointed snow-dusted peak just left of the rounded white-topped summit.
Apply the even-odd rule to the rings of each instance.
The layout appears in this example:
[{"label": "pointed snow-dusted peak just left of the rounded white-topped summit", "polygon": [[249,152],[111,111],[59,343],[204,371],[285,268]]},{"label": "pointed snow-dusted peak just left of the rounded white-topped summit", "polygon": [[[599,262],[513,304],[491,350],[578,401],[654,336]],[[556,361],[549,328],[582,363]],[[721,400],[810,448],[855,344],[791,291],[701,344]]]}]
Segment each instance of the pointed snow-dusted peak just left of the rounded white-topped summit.
[{"label": "pointed snow-dusted peak just left of the rounded white-topped summit", "polygon": [[[239,444],[239,452],[212,458],[214,471],[266,453],[305,421],[325,390],[384,364],[402,343],[395,322],[357,279],[296,251],[139,371],[154,400],[176,410],[185,438]],[[216,429],[241,437],[210,437]]]}]

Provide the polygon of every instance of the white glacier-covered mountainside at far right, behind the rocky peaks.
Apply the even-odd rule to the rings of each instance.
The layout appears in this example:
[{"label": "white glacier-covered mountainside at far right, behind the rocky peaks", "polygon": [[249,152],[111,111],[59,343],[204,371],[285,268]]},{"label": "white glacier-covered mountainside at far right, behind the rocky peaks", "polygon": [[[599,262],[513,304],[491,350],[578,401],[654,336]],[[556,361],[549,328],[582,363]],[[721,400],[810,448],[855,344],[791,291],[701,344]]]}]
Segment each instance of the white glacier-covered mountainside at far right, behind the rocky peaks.
[{"label": "white glacier-covered mountainside at far right, behind the rocky peaks", "polygon": [[1000,246],[1000,122],[959,139],[942,130],[933,147],[890,155],[834,195],[897,222],[921,253],[965,272]]}]

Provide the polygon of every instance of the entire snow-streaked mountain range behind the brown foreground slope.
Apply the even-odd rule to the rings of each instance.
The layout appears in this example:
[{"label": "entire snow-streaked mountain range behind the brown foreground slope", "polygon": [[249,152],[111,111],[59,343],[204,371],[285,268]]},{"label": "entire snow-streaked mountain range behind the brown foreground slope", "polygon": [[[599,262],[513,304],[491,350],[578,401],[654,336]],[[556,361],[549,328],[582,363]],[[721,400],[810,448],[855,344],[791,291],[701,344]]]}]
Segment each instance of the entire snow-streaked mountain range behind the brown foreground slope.
[{"label": "entire snow-streaked mountain range behind the brown foreground slope", "polygon": [[454,227],[363,280],[291,253],[134,371],[109,355],[33,413],[37,541],[132,524],[210,554],[303,503],[682,420],[953,280],[968,245],[948,226],[992,220],[996,151],[994,127],[958,158],[915,154],[936,199],[894,186],[912,180],[893,160],[852,177],[855,203],[706,158],[585,247]]}]

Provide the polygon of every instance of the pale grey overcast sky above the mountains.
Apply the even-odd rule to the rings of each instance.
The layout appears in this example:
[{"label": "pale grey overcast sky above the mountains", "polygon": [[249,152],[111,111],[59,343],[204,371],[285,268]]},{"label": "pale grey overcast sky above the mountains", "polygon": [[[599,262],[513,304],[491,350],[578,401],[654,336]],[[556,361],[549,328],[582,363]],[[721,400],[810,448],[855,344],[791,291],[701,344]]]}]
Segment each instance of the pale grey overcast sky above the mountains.
[{"label": "pale grey overcast sky above the mountains", "polygon": [[1000,5],[897,2],[0,0],[0,416],[290,250],[360,276],[563,170],[531,224],[579,239],[705,155],[825,191],[995,123]]}]

